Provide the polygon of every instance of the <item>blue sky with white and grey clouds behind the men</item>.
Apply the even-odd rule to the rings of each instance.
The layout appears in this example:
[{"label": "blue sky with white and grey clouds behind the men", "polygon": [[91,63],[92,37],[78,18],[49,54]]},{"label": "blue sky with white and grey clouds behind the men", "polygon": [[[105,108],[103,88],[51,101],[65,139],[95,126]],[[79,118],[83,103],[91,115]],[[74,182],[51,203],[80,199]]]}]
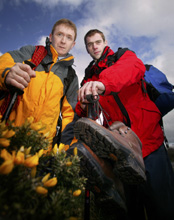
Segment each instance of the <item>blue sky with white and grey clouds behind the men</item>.
[{"label": "blue sky with white and grey clouds behind the men", "polygon": [[[0,55],[24,45],[44,45],[61,18],[77,26],[71,53],[79,82],[91,61],[83,38],[97,28],[114,51],[128,47],[174,84],[173,0],[0,0]],[[174,143],[174,110],[164,117],[164,127],[169,142]]]}]

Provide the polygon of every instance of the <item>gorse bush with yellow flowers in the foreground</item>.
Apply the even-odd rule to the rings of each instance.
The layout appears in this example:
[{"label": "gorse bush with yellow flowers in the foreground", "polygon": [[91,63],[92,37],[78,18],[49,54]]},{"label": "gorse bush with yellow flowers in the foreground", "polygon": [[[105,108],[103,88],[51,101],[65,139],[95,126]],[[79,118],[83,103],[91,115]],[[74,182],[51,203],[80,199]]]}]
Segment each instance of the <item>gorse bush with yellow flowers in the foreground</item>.
[{"label": "gorse bush with yellow flowers in the foreground", "polygon": [[0,219],[83,219],[86,179],[77,149],[57,144],[41,122],[0,122]]}]

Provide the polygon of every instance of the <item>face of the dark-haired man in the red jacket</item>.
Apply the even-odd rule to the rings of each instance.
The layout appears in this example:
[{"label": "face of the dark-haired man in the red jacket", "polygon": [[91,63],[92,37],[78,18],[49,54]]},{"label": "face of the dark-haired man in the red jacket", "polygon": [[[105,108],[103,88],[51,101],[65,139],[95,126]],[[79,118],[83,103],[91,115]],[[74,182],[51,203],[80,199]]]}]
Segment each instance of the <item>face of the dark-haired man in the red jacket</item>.
[{"label": "face of the dark-haired man in the red jacket", "polygon": [[86,38],[87,51],[94,60],[98,60],[101,57],[106,46],[107,41],[103,41],[103,38],[99,33]]}]

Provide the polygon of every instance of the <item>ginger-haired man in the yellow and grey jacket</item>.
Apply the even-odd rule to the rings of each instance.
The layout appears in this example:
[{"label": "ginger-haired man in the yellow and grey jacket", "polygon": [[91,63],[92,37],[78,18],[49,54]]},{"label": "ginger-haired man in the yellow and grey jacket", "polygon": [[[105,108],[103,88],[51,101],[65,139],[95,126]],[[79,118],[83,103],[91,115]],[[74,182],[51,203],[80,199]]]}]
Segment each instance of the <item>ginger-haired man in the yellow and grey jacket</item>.
[{"label": "ginger-haired man in the yellow and grey jacket", "polygon": [[[9,115],[16,126],[33,116],[35,122],[41,121],[47,126],[49,136],[56,134],[56,125],[61,113],[61,142],[71,144],[74,138],[74,108],[77,102],[78,78],[75,74],[65,92],[65,79],[68,68],[74,62],[69,51],[74,47],[77,36],[75,24],[68,19],[57,21],[49,35],[47,55],[36,67],[35,71],[24,63],[30,61],[35,46],[24,46],[3,54],[0,57],[0,112],[4,113],[8,106],[11,88],[23,91]],[[65,94],[66,93],[66,94]],[[7,95],[6,95],[7,94]]]}]

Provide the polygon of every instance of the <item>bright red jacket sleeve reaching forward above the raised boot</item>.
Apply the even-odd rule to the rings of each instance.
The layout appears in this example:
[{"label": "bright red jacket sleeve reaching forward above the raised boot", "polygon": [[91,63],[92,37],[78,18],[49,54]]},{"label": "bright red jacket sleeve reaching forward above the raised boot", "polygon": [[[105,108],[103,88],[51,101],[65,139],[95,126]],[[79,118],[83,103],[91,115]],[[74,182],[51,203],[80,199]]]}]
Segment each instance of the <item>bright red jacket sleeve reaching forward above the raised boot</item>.
[{"label": "bright red jacket sleeve reaching forward above the raised boot", "polygon": [[123,88],[139,82],[145,73],[143,62],[132,51],[126,51],[120,59],[100,73],[99,81],[105,85],[105,94],[120,92]]}]

